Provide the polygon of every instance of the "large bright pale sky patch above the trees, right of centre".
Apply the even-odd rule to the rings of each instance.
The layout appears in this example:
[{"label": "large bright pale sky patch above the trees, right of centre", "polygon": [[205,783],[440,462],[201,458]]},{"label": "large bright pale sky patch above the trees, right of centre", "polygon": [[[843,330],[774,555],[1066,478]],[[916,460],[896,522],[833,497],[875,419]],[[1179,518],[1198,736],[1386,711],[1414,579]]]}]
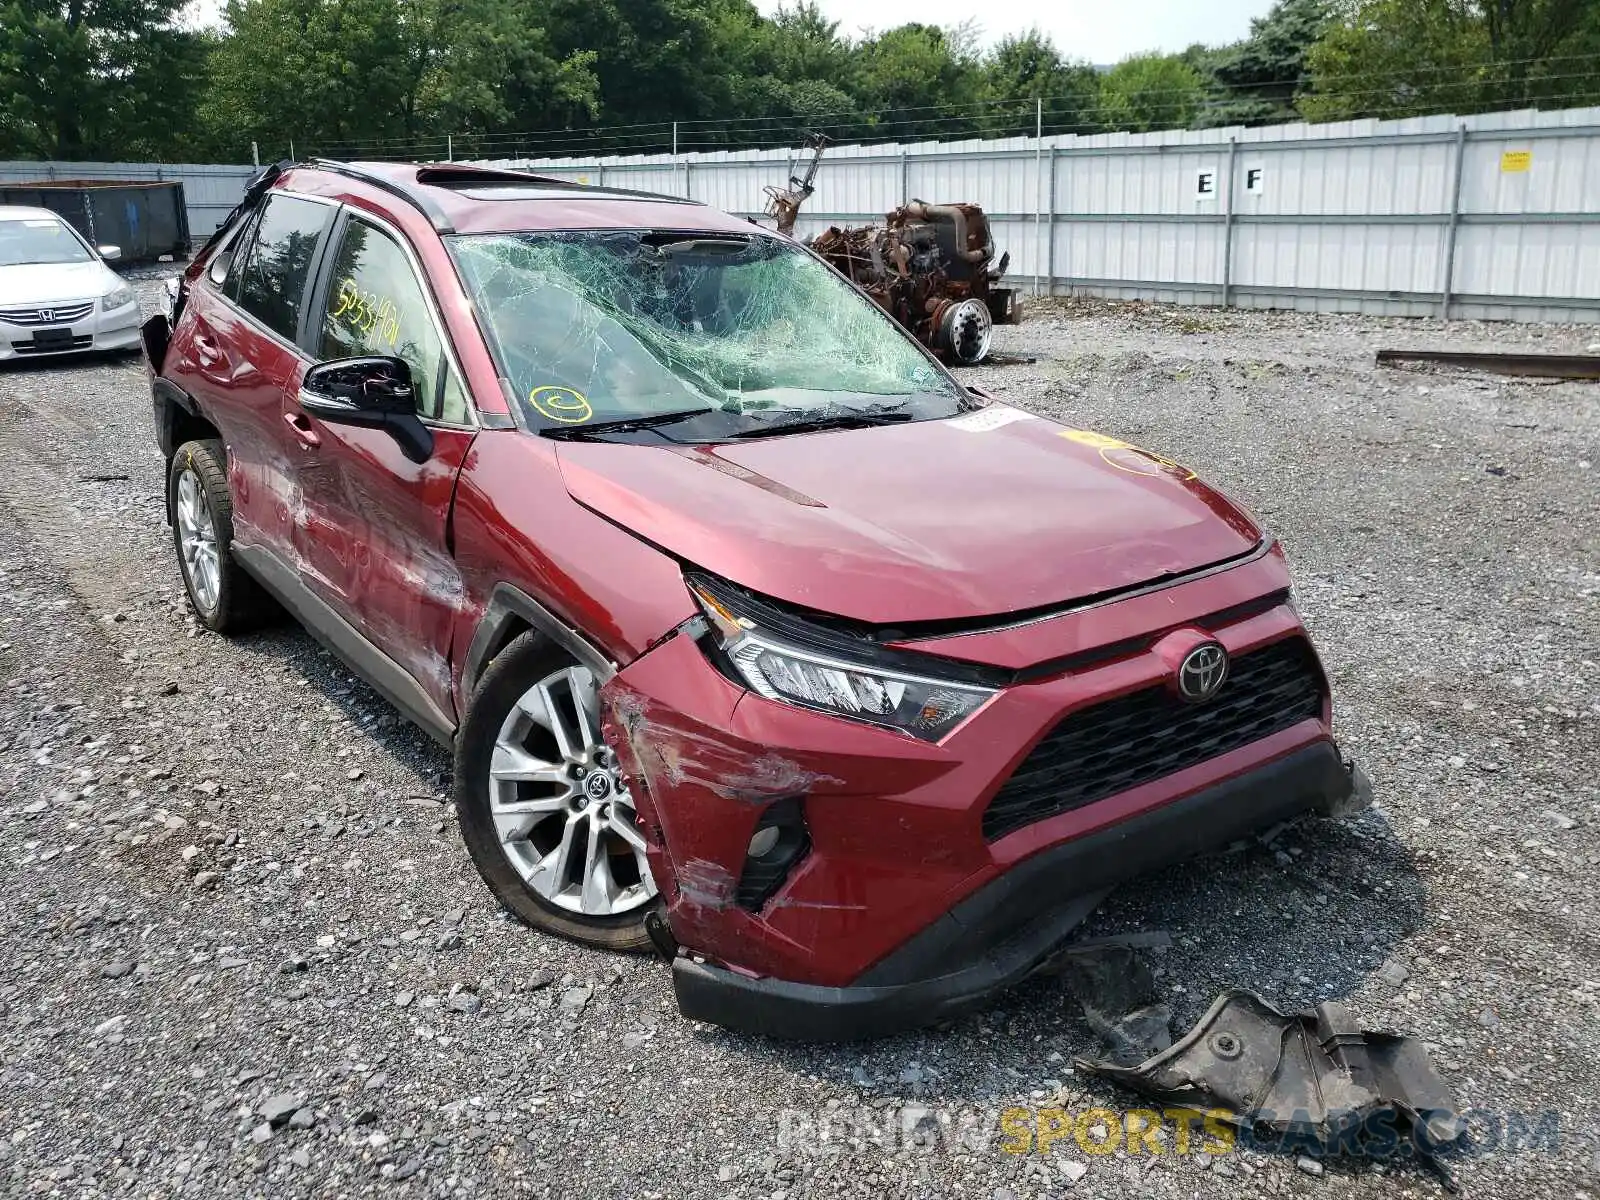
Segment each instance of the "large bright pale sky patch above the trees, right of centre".
[{"label": "large bright pale sky patch above the trees, right of centre", "polygon": [[[755,0],[763,13],[779,0]],[[846,34],[890,29],[907,21],[958,26],[976,18],[986,43],[1038,26],[1064,54],[1090,62],[1117,62],[1146,50],[1176,51],[1203,42],[1237,42],[1250,18],[1272,0],[818,0]]]}]

